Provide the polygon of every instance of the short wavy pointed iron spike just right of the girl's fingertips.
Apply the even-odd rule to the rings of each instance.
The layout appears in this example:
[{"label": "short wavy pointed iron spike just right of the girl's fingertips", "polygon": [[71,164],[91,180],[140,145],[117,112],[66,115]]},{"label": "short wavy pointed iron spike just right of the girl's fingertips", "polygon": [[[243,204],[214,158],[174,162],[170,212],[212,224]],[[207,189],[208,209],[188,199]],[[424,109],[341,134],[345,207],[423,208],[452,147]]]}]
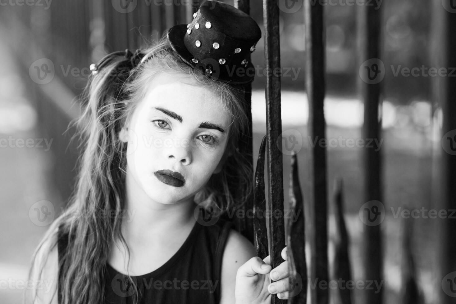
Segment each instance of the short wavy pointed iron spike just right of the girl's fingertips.
[{"label": "short wavy pointed iron spike just right of the girl's fingertips", "polygon": [[285,234],[287,236],[288,269],[292,276],[290,284],[293,286],[293,290],[290,292],[288,304],[306,304],[306,222],[304,218],[304,200],[299,184],[298,161],[295,153],[291,156],[290,211],[293,217],[287,218]]}]

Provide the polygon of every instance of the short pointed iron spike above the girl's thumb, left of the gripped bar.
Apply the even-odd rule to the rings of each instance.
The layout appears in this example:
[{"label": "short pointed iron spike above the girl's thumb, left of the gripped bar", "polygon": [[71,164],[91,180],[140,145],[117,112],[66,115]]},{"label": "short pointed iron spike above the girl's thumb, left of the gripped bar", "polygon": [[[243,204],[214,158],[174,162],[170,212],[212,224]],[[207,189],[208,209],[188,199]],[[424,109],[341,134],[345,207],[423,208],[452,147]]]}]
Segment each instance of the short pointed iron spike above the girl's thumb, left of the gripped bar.
[{"label": "short pointed iron spike above the girl's thumb, left of the gripped bar", "polygon": [[268,256],[268,234],[266,230],[266,218],[257,217],[258,213],[264,214],[266,199],[264,197],[264,157],[266,152],[266,136],[263,137],[259,147],[257,167],[255,169],[254,187],[254,245],[257,256],[266,258]]}]

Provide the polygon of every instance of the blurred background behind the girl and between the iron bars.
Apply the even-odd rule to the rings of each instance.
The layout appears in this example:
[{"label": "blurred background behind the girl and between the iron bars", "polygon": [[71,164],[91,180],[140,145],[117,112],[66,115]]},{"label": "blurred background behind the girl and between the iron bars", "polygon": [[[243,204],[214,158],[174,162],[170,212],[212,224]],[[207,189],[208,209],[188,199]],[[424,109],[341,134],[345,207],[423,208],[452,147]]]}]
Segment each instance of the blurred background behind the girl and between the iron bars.
[{"label": "blurred background behind the girl and between the iron bars", "polygon": [[[280,1],[282,130],[284,134],[297,136],[301,187],[306,193],[309,164],[305,155],[311,142],[306,126],[309,106],[304,91],[308,51],[304,7],[299,0],[291,2],[291,6],[281,5]],[[347,139],[363,138],[363,101],[358,90],[359,5],[348,5],[350,1],[346,0],[330,2],[324,5],[326,137],[341,138],[346,143]],[[438,85],[435,89],[435,80],[441,76],[430,76],[426,69],[439,68],[435,59],[442,54],[440,49],[447,47],[449,41],[445,35],[456,28],[448,29],[439,23],[439,16],[448,11],[440,0],[364,2],[382,11],[380,58],[385,74],[381,81],[380,138],[382,203],[386,210],[381,225],[382,288],[385,303],[402,303],[404,218],[394,215],[399,207],[421,210],[439,206],[433,185],[443,182],[440,155],[443,150],[448,153],[455,150],[448,150],[445,144],[442,147]],[[54,210],[47,211],[52,220],[61,213],[73,191],[80,151],[78,142],[70,142],[75,130],[68,124],[80,115],[78,95],[86,84],[88,67],[109,52],[127,47],[133,50],[157,40],[163,30],[175,23],[188,23],[198,6],[198,0],[0,0],[0,54],[4,58],[0,65],[0,206],[3,211],[0,213],[0,303],[21,303],[23,288],[17,282],[26,280],[33,250],[50,223],[37,220],[33,206],[50,202]],[[250,0],[250,14],[264,37],[260,0]],[[266,77],[261,73],[263,38],[252,54],[252,62],[259,71],[252,87],[256,160],[259,142],[266,132]],[[416,76],[404,72],[404,68],[415,67],[420,69]],[[456,75],[456,71],[449,69],[447,74],[450,73]],[[451,137],[455,135],[456,132],[451,133]],[[355,281],[363,277],[360,262],[363,223],[359,210],[366,202],[363,201],[362,150],[362,147],[347,147],[341,141],[327,149],[330,201],[336,177],[344,181],[345,218]],[[284,153],[285,202],[288,202],[289,154]],[[436,236],[440,220],[421,216],[413,221],[415,278],[420,299],[426,304],[440,303],[443,293],[456,296],[456,292],[448,294],[442,287],[443,277],[438,270],[440,252]],[[331,217],[329,233],[331,240],[335,233]],[[332,258],[331,242],[329,251]],[[448,273],[454,270],[448,269]],[[354,303],[362,303],[358,290],[354,294]]]}]

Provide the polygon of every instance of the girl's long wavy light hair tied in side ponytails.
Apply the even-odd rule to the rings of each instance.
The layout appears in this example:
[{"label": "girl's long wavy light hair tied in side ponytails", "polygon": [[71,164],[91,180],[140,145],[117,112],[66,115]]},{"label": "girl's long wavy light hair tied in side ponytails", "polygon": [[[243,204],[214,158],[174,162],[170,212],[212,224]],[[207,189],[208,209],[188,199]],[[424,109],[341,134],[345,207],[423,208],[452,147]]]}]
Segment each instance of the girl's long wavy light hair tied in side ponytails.
[{"label": "girl's long wavy light hair tied in side ponytails", "polygon": [[[216,92],[233,117],[227,147],[231,156],[226,157],[222,171],[213,174],[197,193],[195,202],[215,204],[223,212],[242,206],[252,191],[251,155],[242,155],[237,148],[240,135],[249,132],[242,87],[213,81],[194,71],[176,55],[165,36],[141,53],[147,54],[147,59],[135,67],[124,56],[110,58],[98,74],[89,77],[83,94],[83,115],[75,121],[84,145],[78,160],[78,183],[67,210],[52,223],[36,249],[31,267],[31,273],[38,267],[41,275],[44,262],[36,265],[37,253],[46,257],[57,245],[56,241],[47,241],[57,240],[59,235],[68,237],[67,250],[59,261],[62,304],[103,303],[102,276],[110,246],[119,239],[128,252],[120,218],[125,208],[127,144],[119,140],[118,134],[158,73],[192,77]],[[115,216],[98,217],[101,212]]]}]

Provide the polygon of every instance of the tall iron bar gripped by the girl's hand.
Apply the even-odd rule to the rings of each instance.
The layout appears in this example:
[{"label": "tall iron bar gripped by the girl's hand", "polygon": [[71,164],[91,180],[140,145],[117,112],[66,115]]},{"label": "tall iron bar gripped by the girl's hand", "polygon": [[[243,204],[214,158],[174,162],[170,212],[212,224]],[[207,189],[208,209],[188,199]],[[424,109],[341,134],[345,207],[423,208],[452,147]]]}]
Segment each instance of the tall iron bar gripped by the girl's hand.
[{"label": "tall iron bar gripped by the girl's hand", "polygon": [[[264,55],[266,71],[280,68],[280,32],[279,7],[276,0],[263,0],[264,19]],[[280,117],[280,75],[268,73],[266,77],[266,130],[268,139],[268,209],[272,214],[280,216],[269,218],[269,254],[271,266],[275,268],[283,262],[280,255],[285,247],[285,223],[283,217],[283,159],[277,146],[281,138],[282,120]],[[272,303],[285,303],[277,295]]]}]

